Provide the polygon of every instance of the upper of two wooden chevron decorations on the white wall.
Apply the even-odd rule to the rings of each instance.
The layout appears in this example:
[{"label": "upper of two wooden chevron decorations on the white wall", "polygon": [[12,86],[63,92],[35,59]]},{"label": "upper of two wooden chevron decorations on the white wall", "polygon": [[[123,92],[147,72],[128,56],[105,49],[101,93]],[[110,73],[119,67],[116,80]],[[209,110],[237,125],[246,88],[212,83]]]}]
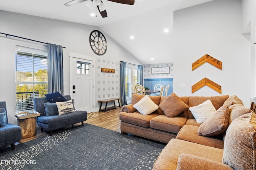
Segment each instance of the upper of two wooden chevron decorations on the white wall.
[{"label": "upper of two wooden chevron decorations on the white wall", "polygon": [[198,59],[197,61],[195,61],[194,63],[192,63],[192,70],[198,68],[199,66],[201,66],[204,63],[210,63],[213,66],[216,66],[217,68],[219,68],[220,70],[222,70],[222,62],[218,61],[217,59],[214,59],[212,56],[206,54],[203,57],[201,57],[200,59]]}]

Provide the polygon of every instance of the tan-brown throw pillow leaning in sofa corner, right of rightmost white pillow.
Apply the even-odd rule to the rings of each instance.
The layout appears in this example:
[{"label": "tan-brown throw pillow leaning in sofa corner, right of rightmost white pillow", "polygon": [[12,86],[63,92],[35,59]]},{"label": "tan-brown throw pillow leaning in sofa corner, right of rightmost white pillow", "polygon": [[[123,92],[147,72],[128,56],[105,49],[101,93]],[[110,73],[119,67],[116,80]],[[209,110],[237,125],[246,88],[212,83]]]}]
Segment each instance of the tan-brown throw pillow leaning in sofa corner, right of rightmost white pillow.
[{"label": "tan-brown throw pillow leaning in sofa corner, right of rightmost white pillow", "polygon": [[215,136],[226,131],[228,128],[229,108],[227,105],[221,106],[198,128],[198,135]]}]

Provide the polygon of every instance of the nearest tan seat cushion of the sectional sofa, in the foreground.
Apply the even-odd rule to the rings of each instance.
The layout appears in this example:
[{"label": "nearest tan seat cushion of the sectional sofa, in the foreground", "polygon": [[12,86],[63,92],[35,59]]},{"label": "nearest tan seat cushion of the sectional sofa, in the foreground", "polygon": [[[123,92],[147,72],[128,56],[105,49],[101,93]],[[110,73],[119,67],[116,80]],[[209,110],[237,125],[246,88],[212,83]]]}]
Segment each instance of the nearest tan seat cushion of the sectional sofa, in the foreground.
[{"label": "nearest tan seat cushion of the sectional sofa, in the foreground", "polygon": [[176,170],[178,158],[183,153],[222,162],[223,149],[171,139],[154,163],[154,170]]}]

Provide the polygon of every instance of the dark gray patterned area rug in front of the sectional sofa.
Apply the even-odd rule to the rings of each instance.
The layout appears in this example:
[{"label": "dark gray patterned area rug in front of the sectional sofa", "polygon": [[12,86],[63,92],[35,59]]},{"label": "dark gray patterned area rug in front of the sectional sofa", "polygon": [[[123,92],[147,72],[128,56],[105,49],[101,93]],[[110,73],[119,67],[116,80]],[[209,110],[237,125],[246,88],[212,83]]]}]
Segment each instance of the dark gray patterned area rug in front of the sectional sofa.
[{"label": "dark gray patterned area rug in front of the sectional sofa", "polygon": [[0,150],[0,169],[150,170],[164,147],[85,123]]}]

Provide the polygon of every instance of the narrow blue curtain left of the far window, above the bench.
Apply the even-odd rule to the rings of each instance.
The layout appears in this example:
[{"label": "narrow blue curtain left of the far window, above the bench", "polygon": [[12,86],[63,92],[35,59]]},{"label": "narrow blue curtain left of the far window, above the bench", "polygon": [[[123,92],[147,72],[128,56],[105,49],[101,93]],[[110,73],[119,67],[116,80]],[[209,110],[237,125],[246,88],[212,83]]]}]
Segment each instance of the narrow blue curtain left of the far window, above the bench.
[{"label": "narrow blue curtain left of the far window, above the bench", "polygon": [[125,94],[125,69],[126,69],[126,62],[120,62],[120,78],[121,78],[121,98],[123,106],[127,105],[126,101],[126,94]]}]

